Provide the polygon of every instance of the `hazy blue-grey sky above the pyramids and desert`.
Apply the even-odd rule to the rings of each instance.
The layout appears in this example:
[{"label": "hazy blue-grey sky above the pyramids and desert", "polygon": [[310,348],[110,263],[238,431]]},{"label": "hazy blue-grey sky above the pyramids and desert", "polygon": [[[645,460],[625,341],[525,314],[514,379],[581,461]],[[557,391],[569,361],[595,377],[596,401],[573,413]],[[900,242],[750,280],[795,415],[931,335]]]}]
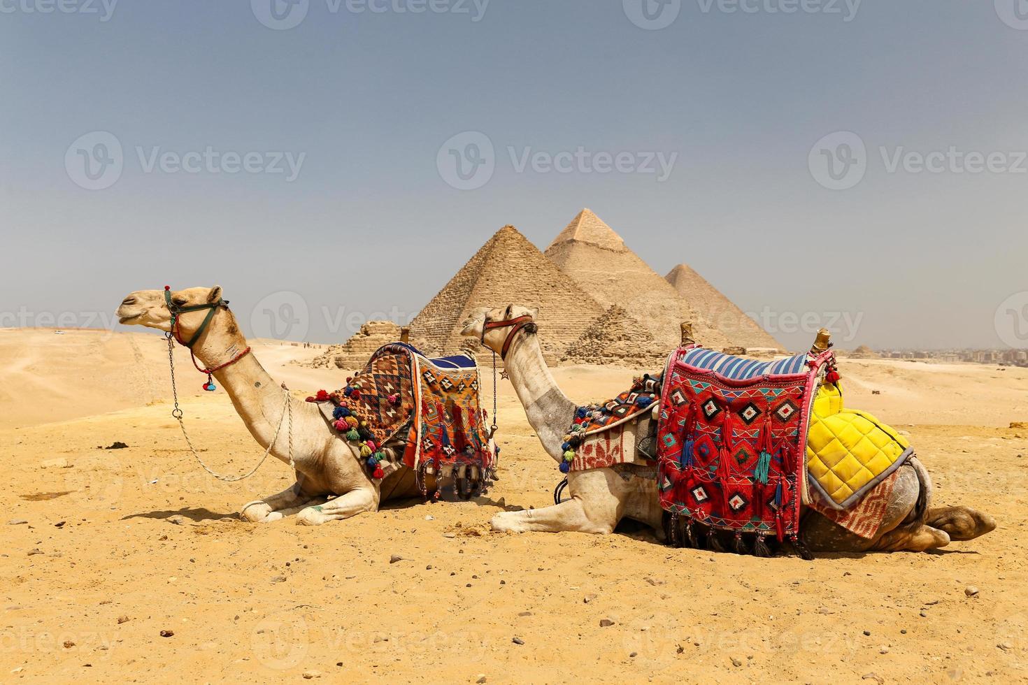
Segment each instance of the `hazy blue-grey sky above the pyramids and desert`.
[{"label": "hazy blue-grey sky above the pyramids and desert", "polygon": [[341,341],[589,206],[794,347],[1028,345],[1022,0],[0,0],[0,326]]}]

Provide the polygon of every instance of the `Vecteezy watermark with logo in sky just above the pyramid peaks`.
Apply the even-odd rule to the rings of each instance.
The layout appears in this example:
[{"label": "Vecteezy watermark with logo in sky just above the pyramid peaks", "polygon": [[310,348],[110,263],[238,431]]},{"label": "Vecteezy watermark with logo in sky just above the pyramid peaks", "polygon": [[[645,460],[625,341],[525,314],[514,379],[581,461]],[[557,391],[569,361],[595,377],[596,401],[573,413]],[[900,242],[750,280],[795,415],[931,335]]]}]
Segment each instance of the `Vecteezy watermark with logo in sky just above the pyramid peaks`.
[{"label": "Vecteezy watermark with logo in sky just above the pyramid peaks", "polygon": [[[671,176],[677,152],[588,150],[538,150],[508,145],[507,156],[515,174],[641,174],[654,175],[657,183]],[[449,138],[436,153],[436,168],[447,185],[457,190],[476,190],[492,178],[497,153],[488,136],[467,130]]]}]

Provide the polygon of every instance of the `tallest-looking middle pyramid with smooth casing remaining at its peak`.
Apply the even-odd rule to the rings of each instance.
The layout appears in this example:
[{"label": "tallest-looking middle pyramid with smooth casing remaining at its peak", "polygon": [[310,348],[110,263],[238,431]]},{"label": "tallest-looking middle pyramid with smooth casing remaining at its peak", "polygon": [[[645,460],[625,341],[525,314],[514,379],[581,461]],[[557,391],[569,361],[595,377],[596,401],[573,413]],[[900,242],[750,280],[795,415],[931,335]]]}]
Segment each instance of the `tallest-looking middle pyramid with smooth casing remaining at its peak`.
[{"label": "tallest-looking middle pyramid with smooth casing remaining at its peak", "polygon": [[684,320],[693,322],[696,340],[707,347],[735,344],[694,311],[590,210],[582,210],[567,224],[546,249],[546,257],[603,307],[622,306],[665,353],[678,344]]}]

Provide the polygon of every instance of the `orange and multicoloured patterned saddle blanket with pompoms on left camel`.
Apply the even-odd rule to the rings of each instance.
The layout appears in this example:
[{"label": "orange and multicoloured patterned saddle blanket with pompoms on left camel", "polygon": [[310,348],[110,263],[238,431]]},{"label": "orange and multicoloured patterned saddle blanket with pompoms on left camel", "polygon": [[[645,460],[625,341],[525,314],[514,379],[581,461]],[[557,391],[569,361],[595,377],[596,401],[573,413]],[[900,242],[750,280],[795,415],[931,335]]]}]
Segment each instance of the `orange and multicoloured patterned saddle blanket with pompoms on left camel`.
[{"label": "orange and multicoloured patterned saddle blanket with pompoms on left camel", "polygon": [[[454,466],[478,466],[475,487],[491,473],[494,455],[479,386],[473,358],[430,359],[409,345],[393,343],[378,348],[345,387],[319,390],[307,401],[318,403],[333,427],[359,446],[373,478],[408,466],[425,493],[426,473],[448,475]],[[384,446],[397,448],[402,459]]]}]

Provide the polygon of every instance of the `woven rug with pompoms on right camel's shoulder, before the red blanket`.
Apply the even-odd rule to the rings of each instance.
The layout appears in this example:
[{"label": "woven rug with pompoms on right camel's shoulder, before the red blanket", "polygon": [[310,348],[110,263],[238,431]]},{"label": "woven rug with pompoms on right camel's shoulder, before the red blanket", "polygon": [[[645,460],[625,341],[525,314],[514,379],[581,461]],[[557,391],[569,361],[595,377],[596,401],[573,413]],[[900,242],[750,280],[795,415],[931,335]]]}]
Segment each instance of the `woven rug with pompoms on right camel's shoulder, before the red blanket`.
[{"label": "woven rug with pompoms on right camel's shoulder, before the red blanket", "polygon": [[[614,464],[648,463],[634,442],[625,447],[625,425],[653,411],[660,397],[661,374],[646,374],[632,379],[632,386],[607,402],[585,405],[575,410],[575,421],[563,437],[560,470],[607,468]],[[642,436],[636,434],[635,441]]]}]

